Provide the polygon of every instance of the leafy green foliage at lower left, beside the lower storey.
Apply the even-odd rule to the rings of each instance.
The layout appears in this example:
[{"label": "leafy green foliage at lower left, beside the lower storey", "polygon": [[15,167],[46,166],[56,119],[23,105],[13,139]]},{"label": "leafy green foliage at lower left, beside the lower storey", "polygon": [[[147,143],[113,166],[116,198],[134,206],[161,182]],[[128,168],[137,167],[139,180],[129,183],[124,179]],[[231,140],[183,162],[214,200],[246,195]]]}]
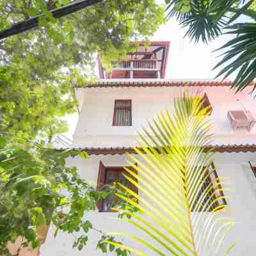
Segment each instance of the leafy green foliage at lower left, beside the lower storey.
[{"label": "leafy green foliage at lower left, beside the lower storey", "polygon": [[56,226],[58,230],[83,234],[74,246],[84,246],[92,223],[87,211],[96,209],[102,193],[95,191],[67,167],[67,157],[78,157],[74,150],[58,152],[42,145],[15,138],[0,140],[0,254],[7,253],[6,244],[24,237],[22,246],[36,247],[38,228]]}]

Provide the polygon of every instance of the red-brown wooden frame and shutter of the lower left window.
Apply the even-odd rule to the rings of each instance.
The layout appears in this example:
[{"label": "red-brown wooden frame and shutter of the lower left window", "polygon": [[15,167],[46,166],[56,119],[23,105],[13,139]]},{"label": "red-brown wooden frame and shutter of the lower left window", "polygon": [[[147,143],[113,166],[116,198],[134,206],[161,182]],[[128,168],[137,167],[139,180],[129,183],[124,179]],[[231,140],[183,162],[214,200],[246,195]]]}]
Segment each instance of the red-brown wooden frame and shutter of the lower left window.
[{"label": "red-brown wooden frame and shutter of the lower left window", "polygon": [[[128,168],[130,170],[133,170],[134,173],[138,174],[138,172],[134,168],[129,167],[129,166],[128,166]],[[107,173],[108,172],[118,172],[118,179],[116,179],[116,182],[120,182],[120,177],[122,175],[122,172],[126,172],[126,171],[124,169],[124,166],[104,166],[102,161],[100,161],[100,163],[99,163],[98,180],[97,180],[97,190],[98,191],[101,191],[106,186],[106,178],[107,178]],[[138,188],[137,187],[135,187],[135,186],[133,186],[131,184],[131,186],[129,188],[132,191],[134,191],[136,194],[138,194]],[[103,209],[104,200],[102,200],[102,199],[99,200],[97,206],[98,206],[99,212],[112,212],[112,211],[104,211],[104,209]]]}]

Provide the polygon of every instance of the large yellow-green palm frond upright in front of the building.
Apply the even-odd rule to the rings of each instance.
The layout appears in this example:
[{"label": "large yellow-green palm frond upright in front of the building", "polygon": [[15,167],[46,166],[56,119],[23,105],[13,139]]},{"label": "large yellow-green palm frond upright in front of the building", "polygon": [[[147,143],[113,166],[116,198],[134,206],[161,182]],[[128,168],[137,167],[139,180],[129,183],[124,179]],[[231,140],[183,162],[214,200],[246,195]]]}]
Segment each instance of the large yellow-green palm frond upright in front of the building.
[{"label": "large yellow-green palm frond upright in front of the building", "polygon": [[[202,97],[185,92],[175,98],[173,116],[168,111],[157,115],[150,130],[139,135],[139,147],[134,147],[138,156],[129,154],[128,161],[138,174],[126,168],[128,175],[124,175],[140,193],[119,184],[126,195],[116,194],[143,213],[122,209],[129,216],[123,221],[137,228],[138,234],[111,235],[129,237],[161,256],[197,256],[205,251],[220,255],[235,221],[227,216],[227,205],[218,203],[225,200],[222,186],[227,181],[217,176],[206,182],[215,169],[213,153],[205,151],[212,139],[212,124],[202,104]],[[145,255],[128,246],[120,248]],[[226,252],[232,248],[234,244]]]}]

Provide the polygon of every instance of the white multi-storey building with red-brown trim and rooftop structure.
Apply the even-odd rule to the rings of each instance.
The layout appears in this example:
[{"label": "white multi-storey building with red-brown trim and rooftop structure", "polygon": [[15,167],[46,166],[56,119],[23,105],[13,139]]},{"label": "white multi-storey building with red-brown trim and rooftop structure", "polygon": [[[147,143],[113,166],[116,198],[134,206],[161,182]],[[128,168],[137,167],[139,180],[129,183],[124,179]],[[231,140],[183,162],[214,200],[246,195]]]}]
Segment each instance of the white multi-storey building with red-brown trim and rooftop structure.
[{"label": "white multi-storey building with red-brown trim and rooftop structure", "polygon": [[[81,113],[73,147],[86,150],[90,159],[69,159],[68,164],[77,166],[82,177],[94,186],[99,179],[104,182],[122,179],[118,173],[127,166],[125,152],[134,153],[132,146],[136,143],[136,134],[141,127],[147,127],[147,120],[151,121],[164,109],[173,113],[173,97],[185,85],[191,90],[200,89],[206,93],[207,104],[212,107],[209,118],[215,124],[212,146],[216,148],[216,172],[229,176],[234,188],[232,196],[226,199],[237,221],[233,234],[237,245],[230,255],[255,255],[256,173],[249,163],[256,164],[256,125],[253,127],[252,117],[256,116],[256,102],[249,94],[252,87],[235,94],[230,90],[230,81],[166,80],[168,50],[169,42],[153,42],[147,52],[141,44],[138,54],[130,55],[132,61],[115,65],[111,74],[101,67],[99,61],[99,82],[78,88],[76,92]],[[233,127],[227,117],[228,111],[235,111],[231,112]],[[239,124],[244,127],[239,129]],[[105,176],[102,178],[100,175]],[[100,205],[99,211],[90,212],[87,218],[105,232],[137,232],[131,225],[116,219],[116,213],[108,209],[108,201]],[[60,234],[55,239],[53,233],[53,228],[50,228],[40,255],[102,255],[100,250],[96,250],[100,238],[97,232],[90,232],[88,246],[81,252],[72,249],[72,236]],[[134,247],[140,248],[136,244]]]}]

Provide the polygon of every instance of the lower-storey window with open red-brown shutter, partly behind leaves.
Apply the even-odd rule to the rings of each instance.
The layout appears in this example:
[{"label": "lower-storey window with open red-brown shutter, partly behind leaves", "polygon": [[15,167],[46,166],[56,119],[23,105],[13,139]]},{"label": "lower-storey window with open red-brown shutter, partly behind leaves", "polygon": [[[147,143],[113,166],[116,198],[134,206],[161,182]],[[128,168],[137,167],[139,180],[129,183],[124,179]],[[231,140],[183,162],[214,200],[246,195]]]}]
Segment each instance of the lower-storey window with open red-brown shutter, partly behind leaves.
[{"label": "lower-storey window with open red-brown shutter, partly behind leaves", "polygon": [[[129,167],[129,169],[132,170],[131,167]],[[134,172],[136,173],[136,170],[134,170]],[[129,173],[125,172],[124,167],[122,166],[106,167],[102,164],[102,161],[100,161],[97,190],[108,190],[108,185],[113,185],[114,182],[119,182],[138,194],[138,188],[125,179],[122,173],[129,175]],[[100,200],[98,209],[100,212],[112,212],[111,208],[114,207],[117,202],[118,198],[115,195],[108,196],[104,200]]]}]

